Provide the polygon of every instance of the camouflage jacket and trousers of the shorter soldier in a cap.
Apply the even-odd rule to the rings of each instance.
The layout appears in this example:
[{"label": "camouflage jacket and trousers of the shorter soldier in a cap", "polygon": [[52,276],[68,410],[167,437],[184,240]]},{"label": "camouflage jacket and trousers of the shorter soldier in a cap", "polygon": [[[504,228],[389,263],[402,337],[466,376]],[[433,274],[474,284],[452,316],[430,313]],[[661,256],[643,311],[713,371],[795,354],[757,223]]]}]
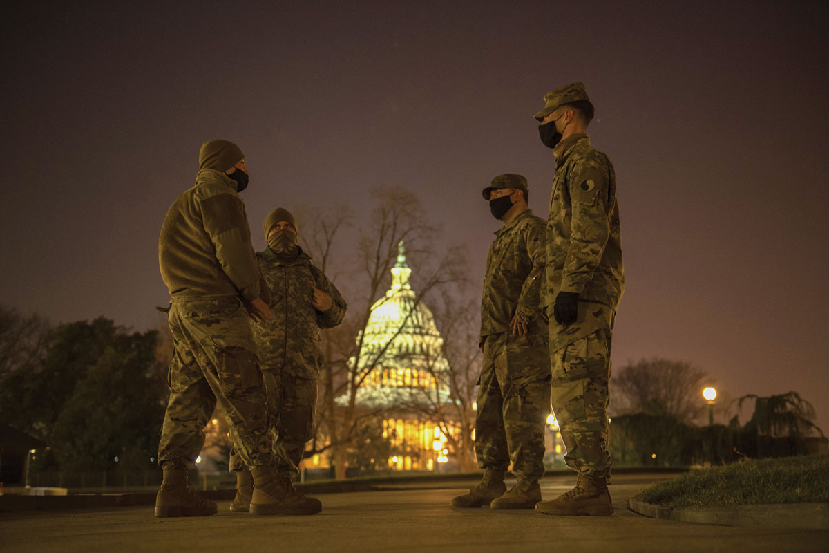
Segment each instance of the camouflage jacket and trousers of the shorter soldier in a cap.
[{"label": "camouflage jacket and trousers of the shorter soldier in a cap", "polygon": [[[547,315],[540,306],[545,221],[521,212],[495,233],[481,302],[483,366],[475,419],[481,468],[537,479],[544,474],[544,424],[550,413]],[[514,314],[527,332],[511,332]]]}]

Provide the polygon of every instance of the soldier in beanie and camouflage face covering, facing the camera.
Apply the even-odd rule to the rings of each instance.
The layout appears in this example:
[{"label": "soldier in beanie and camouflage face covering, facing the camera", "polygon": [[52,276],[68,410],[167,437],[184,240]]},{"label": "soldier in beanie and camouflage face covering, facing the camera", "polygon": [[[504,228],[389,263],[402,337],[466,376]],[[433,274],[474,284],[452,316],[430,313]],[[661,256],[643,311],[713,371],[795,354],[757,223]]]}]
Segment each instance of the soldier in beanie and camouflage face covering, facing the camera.
[{"label": "soldier in beanie and camouflage face covering, facing the camera", "polygon": [[[317,380],[322,365],[319,331],[336,327],[346,316],[346,302],[311,257],[297,245],[297,222],[282,208],[264,221],[268,248],[256,254],[271,290],[274,317],[253,325],[274,424],[272,439],[279,474],[290,485],[298,474],[305,444],[313,437]],[[250,476],[235,449],[230,470],[236,472],[231,511],[246,511]]]}]

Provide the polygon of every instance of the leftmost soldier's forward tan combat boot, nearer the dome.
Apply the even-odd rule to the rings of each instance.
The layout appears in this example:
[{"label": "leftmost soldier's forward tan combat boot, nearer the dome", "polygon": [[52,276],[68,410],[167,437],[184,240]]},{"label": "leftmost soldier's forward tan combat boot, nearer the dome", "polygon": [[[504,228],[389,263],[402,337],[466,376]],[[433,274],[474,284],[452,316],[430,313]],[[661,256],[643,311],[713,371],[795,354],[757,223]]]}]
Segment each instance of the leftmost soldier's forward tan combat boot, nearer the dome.
[{"label": "leftmost soldier's forward tan combat boot, nearer the dome", "polygon": [[251,467],[254,492],[250,497],[251,515],[313,515],[322,503],[305,497],[279,475],[276,467]]}]

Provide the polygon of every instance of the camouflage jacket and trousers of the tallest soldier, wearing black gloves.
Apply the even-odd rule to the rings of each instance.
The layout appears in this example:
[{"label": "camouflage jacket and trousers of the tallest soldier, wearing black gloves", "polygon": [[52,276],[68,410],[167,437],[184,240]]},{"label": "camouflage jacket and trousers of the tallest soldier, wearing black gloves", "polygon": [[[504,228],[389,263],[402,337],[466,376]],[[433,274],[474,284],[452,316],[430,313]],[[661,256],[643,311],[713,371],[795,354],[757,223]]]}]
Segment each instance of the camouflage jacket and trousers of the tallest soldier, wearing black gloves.
[{"label": "camouflage jacket and trousers of the tallest soldier, wearing black gloves", "polygon": [[[574,134],[554,149],[547,221],[545,304],[550,315],[551,399],[570,468],[607,477],[608,380],[613,321],[624,289],[616,177],[607,155]],[[553,304],[579,294],[578,318],[562,326]]]}]

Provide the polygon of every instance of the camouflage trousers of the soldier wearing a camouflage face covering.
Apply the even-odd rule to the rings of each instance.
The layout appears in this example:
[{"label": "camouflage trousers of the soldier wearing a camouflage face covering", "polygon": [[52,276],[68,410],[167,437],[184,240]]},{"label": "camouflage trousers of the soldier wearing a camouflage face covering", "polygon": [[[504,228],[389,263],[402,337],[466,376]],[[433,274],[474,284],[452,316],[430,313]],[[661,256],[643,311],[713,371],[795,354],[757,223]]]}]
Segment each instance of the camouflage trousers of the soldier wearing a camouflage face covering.
[{"label": "camouflage trousers of the soldier wearing a camouflage face covering", "polygon": [[[317,380],[295,376],[295,371],[262,367],[268,394],[268,413],[273,427],[271,444],[276,454],[276,466],[286,478],[299,473],[305,444],[313,438],[314,415],[317,412]],[[230,470],[245,468],[235,448],[230,450]]]}]

